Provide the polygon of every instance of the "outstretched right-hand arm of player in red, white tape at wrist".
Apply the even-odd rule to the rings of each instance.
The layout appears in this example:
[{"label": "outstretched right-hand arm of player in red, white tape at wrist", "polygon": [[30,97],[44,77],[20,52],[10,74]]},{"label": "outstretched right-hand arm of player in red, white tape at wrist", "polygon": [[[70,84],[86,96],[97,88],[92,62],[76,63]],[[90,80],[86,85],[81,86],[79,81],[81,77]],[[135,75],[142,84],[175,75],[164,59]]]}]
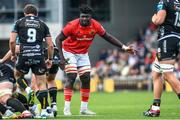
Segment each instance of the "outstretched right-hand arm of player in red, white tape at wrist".
[{"label": "outstretched right-hand arm of player in red, white tape at wrist", "polygon": [[124,45],[117,38],[115,38],[114,36],[112,36],[111,34],[109,34],[107,32],[102,37],[109,43],[119,47],[120,49],[122,49],[130,54],[136,54],[136,52],[137,52],[135,49],[133,49],[132,46]]}]

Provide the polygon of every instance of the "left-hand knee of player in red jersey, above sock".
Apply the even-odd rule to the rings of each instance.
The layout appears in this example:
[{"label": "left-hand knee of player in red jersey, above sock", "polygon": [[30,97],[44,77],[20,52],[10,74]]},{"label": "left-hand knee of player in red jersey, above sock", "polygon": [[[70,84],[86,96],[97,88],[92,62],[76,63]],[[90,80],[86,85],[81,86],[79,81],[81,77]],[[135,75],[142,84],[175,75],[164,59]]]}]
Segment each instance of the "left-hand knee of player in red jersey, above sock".
[{"label": "left-hand knee of player in red jersey, above sock", "polygon": [[65,83],[65,88],[72,89],[73,85],[74,85],[74,82],[76,80],[76,77],[77,77],[77,73],[68,73],[67,74],[67,80],[66,80],[66,83]]}]

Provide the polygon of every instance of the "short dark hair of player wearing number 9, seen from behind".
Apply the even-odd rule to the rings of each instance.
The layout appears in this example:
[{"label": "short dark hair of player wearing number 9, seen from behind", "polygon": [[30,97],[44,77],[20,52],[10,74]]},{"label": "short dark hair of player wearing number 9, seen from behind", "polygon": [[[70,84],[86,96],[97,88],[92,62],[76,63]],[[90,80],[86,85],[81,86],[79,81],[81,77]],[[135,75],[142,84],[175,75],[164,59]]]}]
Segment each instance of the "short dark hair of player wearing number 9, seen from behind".
[{"label": "short dark hair of player wearing number 9, seen from behind", "polygon": [[34,14],[34,15],[37,15],[38,14],[38,9],[35,5],[33,4],[27,4],[25,7],[24,7],[24,13],[25,14]]}]

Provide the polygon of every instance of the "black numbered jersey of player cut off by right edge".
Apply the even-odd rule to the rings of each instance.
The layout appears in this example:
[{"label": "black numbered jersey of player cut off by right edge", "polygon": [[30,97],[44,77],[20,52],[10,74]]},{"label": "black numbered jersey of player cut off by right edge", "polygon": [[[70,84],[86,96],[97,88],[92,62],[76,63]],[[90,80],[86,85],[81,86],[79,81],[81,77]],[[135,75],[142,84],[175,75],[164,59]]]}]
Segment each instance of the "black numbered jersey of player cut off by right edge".
[{"label": "black numbered jersey of player cut off by right edge", "polygon": [[179,0],[160,0],[157,5],[157,11],[166,10],[166,18],[160,26],[160,34],[175,32],[180,33],[180,1]]}]

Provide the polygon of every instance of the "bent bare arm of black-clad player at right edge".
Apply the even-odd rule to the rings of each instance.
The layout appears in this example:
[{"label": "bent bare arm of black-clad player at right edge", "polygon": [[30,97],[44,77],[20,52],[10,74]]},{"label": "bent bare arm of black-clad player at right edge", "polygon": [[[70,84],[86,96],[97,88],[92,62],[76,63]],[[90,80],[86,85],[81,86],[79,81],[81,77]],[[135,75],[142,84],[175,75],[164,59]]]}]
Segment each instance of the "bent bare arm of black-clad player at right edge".
[{"label": "bent bare arm of black-clad player at right edge", "polygon": [[164,23],[165,18],[166,18],[166,11],[160,10],[152,16],[152,22],[155,25],[161,25],[162,23]]}]

